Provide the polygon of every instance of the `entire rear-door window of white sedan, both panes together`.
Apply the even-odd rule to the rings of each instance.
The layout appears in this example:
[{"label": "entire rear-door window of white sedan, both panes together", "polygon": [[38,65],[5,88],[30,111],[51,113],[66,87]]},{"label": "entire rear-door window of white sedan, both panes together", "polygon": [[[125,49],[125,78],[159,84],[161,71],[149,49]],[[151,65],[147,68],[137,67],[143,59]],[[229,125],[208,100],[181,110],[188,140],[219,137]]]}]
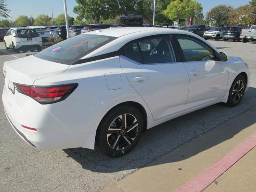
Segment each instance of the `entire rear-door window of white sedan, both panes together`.
[{"label": "entire rear-door window of white sedan, both panes together", "polygon": [[124,56],[144,64],[175,62],[169,36],[143,38],[124,47]]}]

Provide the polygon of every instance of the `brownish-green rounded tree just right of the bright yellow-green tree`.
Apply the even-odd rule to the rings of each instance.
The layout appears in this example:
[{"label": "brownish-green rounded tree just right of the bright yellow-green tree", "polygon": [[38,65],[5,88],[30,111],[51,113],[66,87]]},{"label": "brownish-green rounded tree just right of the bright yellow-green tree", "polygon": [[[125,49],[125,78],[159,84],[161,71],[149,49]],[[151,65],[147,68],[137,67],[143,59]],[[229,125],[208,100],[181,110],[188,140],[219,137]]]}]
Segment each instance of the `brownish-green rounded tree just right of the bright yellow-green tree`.
[{"label": "brownish-green rounded tree just right of the bright yellow-green tree", "polygon": [[213,22],[217,26],[226,26],[228,24],[228,14],[232,9],[232,6],[224,4],[215,6],[206,13],[206,20]]}]

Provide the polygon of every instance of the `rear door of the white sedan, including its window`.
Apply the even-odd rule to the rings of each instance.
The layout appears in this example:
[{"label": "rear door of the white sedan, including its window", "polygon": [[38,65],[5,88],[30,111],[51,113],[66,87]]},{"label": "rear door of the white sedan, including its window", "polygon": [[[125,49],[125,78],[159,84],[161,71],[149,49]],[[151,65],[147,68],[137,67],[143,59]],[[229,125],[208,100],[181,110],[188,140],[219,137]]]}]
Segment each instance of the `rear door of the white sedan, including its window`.
[{"label": "rear door of the white sedan, including its window", "polygon": [[126,44],[120,64],[154,120],[185,110],[189,77],[174,54],[170,36],[151,36]]}]

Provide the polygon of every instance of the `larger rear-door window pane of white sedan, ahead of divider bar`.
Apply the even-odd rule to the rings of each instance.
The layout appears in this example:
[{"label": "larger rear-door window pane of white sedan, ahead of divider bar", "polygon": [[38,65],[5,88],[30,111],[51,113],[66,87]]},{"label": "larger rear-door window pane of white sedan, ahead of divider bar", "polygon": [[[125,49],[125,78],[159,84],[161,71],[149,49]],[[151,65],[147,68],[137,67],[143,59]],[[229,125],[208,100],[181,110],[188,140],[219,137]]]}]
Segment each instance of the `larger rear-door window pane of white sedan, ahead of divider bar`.
[{"label": "larger rear-door window pane of white sedan, ahead of divider bar", "polygon": [[154,37],[138,41],[144,63],[175,62],[170,37]]}]

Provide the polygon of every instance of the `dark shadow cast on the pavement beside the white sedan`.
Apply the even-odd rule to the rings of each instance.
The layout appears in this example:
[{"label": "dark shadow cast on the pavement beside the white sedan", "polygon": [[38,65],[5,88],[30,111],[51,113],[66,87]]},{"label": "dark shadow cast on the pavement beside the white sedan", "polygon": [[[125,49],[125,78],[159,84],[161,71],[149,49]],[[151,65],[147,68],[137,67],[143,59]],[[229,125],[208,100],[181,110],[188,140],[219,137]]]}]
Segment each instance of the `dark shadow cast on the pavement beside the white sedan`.
[{"label": "dark shadow cast on the pavement beside the white sedan", "polygon": [[[256,112],[255,106],[256,88],[250,87],[244,96],[244,100],[236,107],[230,108],[221,103],[215,104],[147,130],[142,135],[140,142],[134,150],[120,158],[107,157],[97,149],[73,148],[64,149],[64,152],[66,152],[68,158],[73,158],[81,164],[82,168],[91,170],[92,172],[110,173],[123,171],[124,173],[125,170],[132,172],[132,169],[145,166],[156,158],[171,152],[175,148],[199,137],[201,134],[212,130],[216,126],[244,113],[250,108],[254,107],[254,111]],[[244,122],[242,125],[236,125],[234,128],[227,127],[223,132],[217,132],[214,138],[202,140],[202,147],[191,147],[191,150],[187,153],[185,152],[186,154],[184,156],[173,158],[164,163],[190,158],[232,138],[238,132],[254,123],[256,123],[256,118],[253,118],[250,122]]]}]

